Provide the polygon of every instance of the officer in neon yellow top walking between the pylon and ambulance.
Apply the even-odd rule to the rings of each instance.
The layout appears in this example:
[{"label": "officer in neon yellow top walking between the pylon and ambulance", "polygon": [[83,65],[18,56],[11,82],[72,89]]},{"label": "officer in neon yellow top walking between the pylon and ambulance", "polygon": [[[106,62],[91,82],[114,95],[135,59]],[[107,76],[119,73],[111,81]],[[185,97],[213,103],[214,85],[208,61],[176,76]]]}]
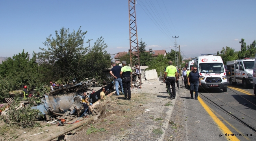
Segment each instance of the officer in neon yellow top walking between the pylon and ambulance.
[{"label": "officer in neon yellow top walking between the pylon and ambulance", "polygon": [[[173,66],[173,62],[169,61],[169,66],[166,67],[166,71],[165,71],[165,77],[163,79],[163,81],[165,82],[165,78],[167,77],[167,90],[169,92],[170,97],[168,99],[175,99],[176,97],[176,91],[175,91],[175,81],[178,81],[178,72],[176,67]],[[172,85],[172,92],[171,92],[171,88],[170,85]]]}]

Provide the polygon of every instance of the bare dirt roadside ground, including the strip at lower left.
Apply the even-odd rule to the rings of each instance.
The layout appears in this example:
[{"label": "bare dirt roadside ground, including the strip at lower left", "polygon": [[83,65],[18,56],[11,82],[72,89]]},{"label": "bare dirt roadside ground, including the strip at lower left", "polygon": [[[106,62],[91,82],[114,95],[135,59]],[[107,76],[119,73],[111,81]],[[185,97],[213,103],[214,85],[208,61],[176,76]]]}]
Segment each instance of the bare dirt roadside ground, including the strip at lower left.
[{"label": "bare dirt roadside ground, including the strip at lower left", "polygon": [[[124,100],[124,95],[114,95],[105,101],[101,101],[97,110],[102,110],[102,114],[98,119],[69,132],[67,140],[184,140],[184,121],[186,117],[182,114],[184,111],[180,110],[184,105],[184,101],[182,98],[179,98],[183,94],[182,90],[178,90],[178,96],[176,96],[175,100],[167,99],[169,95],[166,93],[165,83],[147,81],[142,85],[142,89],[132,89],[131,101]],[[174,104],[175,107],[173,106]],[[170,117],[171,111],[173,111],[173,114]],[[167,119],[172,123],[167,121]],[[0,141],[1,139],[15,141],[24,141],[25,139],[28,141],[40,140],[76,124],[78,123],[56,127],[56,125],[50,125],[41,121],[42,127],[19,128],[7,127],[4,123],[0,123]],[[166,128],[166,125],[168,128]],[[45,130],[49,131],[45,132]],[[44,133],[30,136],[40,132]],[[56,140],[61,141],[63,139],[64,135]]]}]

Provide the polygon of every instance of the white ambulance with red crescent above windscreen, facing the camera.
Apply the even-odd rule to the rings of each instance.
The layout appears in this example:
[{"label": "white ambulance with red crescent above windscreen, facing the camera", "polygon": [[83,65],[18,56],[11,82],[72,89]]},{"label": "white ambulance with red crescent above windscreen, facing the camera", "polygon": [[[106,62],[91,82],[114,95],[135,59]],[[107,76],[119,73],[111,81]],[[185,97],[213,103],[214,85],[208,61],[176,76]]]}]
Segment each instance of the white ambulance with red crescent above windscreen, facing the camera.
[{"label": "white ambulance with red crescent above windscreen, facing the camera", "polygon": [[201,80],[201,87],[199,86],[198,91],[202,89],[222,89],[223,92],[227,92],[228,80],[221,56],[210,54],[198,56],[194,66],[197,67]]}]

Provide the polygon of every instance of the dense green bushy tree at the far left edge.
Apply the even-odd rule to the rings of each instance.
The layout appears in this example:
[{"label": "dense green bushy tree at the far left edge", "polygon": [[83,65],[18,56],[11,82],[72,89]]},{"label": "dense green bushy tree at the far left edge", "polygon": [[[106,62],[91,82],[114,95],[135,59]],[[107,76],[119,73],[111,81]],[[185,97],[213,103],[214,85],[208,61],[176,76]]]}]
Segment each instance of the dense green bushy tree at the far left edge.
[{"label": "dense green bushy tree at the far left edge", "polygon": [[28,52],[7,58],[0,64],[0,101],[9,97],[9,91],[19,89],[22,85],[28,88],[39,85],[43,74],[39,73],[39,65],[36,62],[36,54],[32,58]]}]

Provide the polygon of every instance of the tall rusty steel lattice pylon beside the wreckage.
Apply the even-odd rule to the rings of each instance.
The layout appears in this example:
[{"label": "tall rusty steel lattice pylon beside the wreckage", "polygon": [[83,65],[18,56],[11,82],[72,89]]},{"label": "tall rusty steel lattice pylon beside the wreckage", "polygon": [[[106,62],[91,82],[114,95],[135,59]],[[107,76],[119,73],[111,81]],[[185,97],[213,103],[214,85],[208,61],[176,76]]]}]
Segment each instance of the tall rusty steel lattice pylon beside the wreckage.
[{"label": "tall rusty steel lattice pylon beside the wreckage", "polygon": [[[130,65],[131,69],[134,67],[134,63],[139,64],[139,75],[135,74],[135,76],[139,76],[139,80],[134,80],[139,82],[141,88],[141,69],[139,63],[139,43],[138,43],[138,34],[137,34],[137,20],[136,20],[136,11],[135,11],[135,0],[128,0],[129,7],[129,32],[130,32]],[[137,50],[137,52],[132,53],[133,50]],[[132,56],[136,56],[136,60],[132,59]],[[135,67],[134,67],[135,68]],[[132,79],[131,79],[131,87],[132,87]]]}]

